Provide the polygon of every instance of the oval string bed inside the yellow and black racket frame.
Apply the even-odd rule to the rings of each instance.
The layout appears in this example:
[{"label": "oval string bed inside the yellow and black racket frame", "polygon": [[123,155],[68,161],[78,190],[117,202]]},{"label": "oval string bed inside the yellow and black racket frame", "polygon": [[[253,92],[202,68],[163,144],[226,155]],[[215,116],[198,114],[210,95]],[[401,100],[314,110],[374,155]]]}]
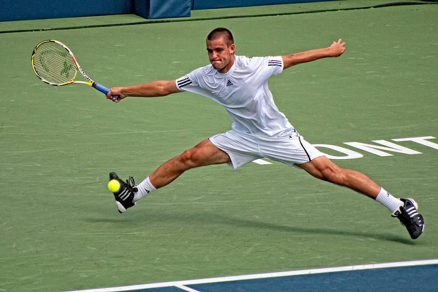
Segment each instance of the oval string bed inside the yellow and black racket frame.
[{"label": "oval string bed inside the yellow and black racket frame", "polygon": [[41,78],[52,84],[67,83],[76,75],[72,56],[55,42],[46,42],[37,48],[34,68]]}]

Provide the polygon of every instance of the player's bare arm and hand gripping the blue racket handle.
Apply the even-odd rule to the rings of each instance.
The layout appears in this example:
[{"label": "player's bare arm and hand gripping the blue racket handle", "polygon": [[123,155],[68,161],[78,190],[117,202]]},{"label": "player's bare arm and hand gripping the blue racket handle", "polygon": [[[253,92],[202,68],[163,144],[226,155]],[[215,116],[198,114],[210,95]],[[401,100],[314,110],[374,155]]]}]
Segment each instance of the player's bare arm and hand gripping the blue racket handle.
[{"label": "player's bare arm and hand gripping the blue racket handle", "polygon": [[[126,86],[126,87],[113,87],[107,94],[107,99],[114,102],[119,102],[127,96],[143,96],[143,97],[156,97],[166,96],[171,93],[178,93],[180,91],[175,80],[172,81],[152,81],[140,85]],[[113,96],[119,95],[118,99]]]}]

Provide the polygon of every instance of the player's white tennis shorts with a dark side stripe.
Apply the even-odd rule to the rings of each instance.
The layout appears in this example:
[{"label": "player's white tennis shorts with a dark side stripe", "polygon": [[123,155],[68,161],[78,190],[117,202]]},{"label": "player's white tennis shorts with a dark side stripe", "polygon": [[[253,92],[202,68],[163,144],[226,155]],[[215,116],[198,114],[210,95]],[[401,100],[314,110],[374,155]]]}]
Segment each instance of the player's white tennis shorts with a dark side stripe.
[{"label": "player's white tennis shorts with a dark side stripe", "polygon": [[233,169],[264,157],[294,166],[324,155],[296,132],[269,137],[230,130],[209,140],[230,156],[231,163],[228,165]]}]

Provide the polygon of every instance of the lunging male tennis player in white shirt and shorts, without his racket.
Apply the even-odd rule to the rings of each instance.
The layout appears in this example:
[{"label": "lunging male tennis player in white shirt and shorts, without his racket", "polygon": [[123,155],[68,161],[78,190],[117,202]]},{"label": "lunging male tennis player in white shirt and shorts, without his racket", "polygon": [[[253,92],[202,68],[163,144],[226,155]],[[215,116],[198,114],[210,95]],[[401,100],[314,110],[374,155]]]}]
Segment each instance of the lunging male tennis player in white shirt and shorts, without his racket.
[{"label": "lunging male tennis player in white shirt and shorts, without his racket", "polygon": [[[224,163],[237,169],[266,157],[302,168],[315,178],[346,186],[382,203],[393,217],[400,219],[413,239],[421,235],[424,221],[417,212],[416,201],[393,197],[364,174],[338,167],[304,140],[274,104],[268,88],[271,75],[301,63],[342,55],[345,43],[341,39],[326,48],[292,55],[248,58],[235,55],[234,39],[228,29],[217,28],[208,35],[206,45],[210,65],[176,80],[114,87],[107,94],[108,99],[120,102],[127,96],[153,97],[189,91],[219,103],[233,120],[231,130],[170,159],[138,185],[132,177],[125,183],[111,172],[110,180],[121,183],[120,190],[114,193],[120,213],[188,169]],[[119,98],[115,99],[115,95]]]}]

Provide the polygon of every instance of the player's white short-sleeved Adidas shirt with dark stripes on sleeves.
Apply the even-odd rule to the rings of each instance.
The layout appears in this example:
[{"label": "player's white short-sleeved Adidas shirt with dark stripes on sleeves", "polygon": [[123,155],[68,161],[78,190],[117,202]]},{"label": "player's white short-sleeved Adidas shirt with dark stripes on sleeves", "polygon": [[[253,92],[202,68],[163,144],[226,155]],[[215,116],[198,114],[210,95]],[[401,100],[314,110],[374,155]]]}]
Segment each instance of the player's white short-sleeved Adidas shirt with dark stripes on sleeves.
[{"label": "player's white short-sleeved Adidas shirt with dark stripes on sleeves", "polygon": [[177,79],[177,88],[219,103],[233,120],[235,131],[263,136],[294,132],[268,88],[268,78],[283,71],[281,56],[235,57],[227,73],[219,73],[210,64]]}]

